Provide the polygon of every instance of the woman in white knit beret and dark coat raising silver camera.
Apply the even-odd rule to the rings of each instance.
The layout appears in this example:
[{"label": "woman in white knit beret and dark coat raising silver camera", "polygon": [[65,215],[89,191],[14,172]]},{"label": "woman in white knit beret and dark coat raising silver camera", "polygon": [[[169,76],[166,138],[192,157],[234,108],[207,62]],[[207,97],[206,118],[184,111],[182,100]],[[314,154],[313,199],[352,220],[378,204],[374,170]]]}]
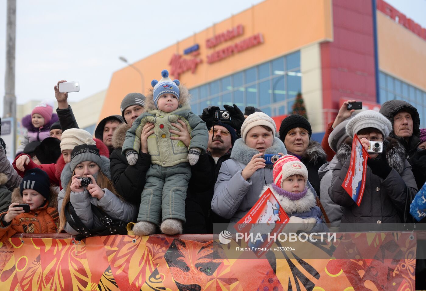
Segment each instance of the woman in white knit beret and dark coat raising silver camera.
[{"label": "woman in white knit beret and dark coat raising silver camera", "polygon": [[[409,215],[406,207],[409,210],[411,203],[409,197],[417,192],[417,186],[405,149],[397,140],[388,137],[391,130],[389,120],[372,110],[358,113],[346,125],[349,137],[337,150],[338,162],[328,189],[331,200],[344,207],[341,223],[406,222]],[[371,143],[379,142],[378,153],[369,152],[365,190],[359,207],[342,187],[351,163],[354,134],[366,150]]]}]

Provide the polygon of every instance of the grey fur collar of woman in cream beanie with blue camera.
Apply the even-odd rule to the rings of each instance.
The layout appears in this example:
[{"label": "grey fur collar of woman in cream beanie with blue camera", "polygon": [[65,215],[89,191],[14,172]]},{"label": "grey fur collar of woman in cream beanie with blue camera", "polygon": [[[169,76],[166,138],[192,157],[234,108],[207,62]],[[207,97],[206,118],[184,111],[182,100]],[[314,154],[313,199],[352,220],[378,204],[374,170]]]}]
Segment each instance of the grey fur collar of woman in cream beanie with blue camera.
[{"label": "grey fur collar of woman in cream beanie with blue camera", "polygon": [[[265,154],[278,153],[287,154],[287,150],[282,141],[278,137],[274,137],[271,147],[266,149]],[[242,138],[239,138],[232,147],[231,159],[247,165],[255,154],[259,154],[259,151],[254,148],[249,148],[248,145],[243,142]],[[273,165],[266,165],[267,168],[272,168],[272,166]]]}]

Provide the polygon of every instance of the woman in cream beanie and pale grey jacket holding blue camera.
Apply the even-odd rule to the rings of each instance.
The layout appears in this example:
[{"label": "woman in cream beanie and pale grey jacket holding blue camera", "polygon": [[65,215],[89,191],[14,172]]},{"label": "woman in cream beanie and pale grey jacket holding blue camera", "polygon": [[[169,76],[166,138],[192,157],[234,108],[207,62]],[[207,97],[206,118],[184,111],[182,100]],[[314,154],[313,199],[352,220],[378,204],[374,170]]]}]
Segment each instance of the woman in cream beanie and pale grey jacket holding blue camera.
[{"label": "woman in cream beanie and pale grey jacket holding blue camera", "polygon": [[235,223],[256,203],[263,186],[273,182],[273,165],[266,165],[264,154],[287,154],[275,137],[276,125],[263,112],[245,119],[241,139],[235,141],[230,160],[222,163],[216,181],[212,210]]}]

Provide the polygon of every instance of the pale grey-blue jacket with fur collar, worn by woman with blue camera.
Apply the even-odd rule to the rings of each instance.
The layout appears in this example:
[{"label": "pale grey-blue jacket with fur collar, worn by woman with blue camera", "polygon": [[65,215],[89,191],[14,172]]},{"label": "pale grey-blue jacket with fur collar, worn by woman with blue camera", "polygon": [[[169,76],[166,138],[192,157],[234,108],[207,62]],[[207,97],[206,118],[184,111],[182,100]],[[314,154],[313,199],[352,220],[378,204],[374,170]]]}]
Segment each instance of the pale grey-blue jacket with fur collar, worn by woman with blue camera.
[{"label": "pale grey-blue jacket with fur collar, worn by woman with blue camera", "polygon": [[[282,141],[275,137],[265,154],[280,152],[287,154]],[[247,181],[242,178],[242,170],[255,154],[259,154],[259,151],[238,139],[232,148],[230,160],[223,162],[220,168],[211,207],[217,215],[230,218],[231,223],[239,221],[259,199],[263,186],[273,182],[272,165],[256,170]]]}]

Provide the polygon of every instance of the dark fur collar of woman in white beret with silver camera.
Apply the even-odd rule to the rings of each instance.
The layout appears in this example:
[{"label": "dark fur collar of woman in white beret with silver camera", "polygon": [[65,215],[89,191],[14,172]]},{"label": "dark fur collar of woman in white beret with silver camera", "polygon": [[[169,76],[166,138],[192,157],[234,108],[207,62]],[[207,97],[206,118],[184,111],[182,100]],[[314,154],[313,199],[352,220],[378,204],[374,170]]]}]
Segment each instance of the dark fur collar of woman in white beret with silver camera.
[{"label": "dark fur collar of woman in white beret with silver camera", "polygon": [[[352,137],[346,138],[337,150],[337,160],[339,160],[341,164],[345,163],[348,157],[351,156],[352,141]],[[388,160],[389,166],[401,174],[404,170],[404,162],[406,160],[405,148],[392,137],[386,137],[384,143],[386,145],[386,159]]]}]

